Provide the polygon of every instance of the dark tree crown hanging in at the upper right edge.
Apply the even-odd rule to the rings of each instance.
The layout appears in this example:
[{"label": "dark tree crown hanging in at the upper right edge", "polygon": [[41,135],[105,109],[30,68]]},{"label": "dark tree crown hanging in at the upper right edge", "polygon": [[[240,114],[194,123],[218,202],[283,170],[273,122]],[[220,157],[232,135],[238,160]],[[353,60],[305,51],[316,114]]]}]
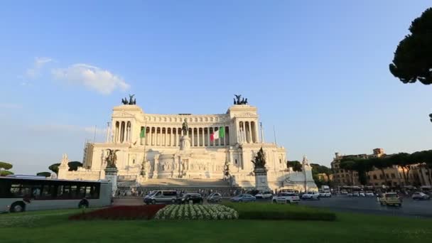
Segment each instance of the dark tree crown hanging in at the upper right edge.
[{"label": "dark tree crown hanging in at the upper right edge", "polygon": [[401,82],[419,80],[424,85],[432,83],[432,8],[426,9],[412,21],[411,32],[399,43],[394,53],[390,72]]}]

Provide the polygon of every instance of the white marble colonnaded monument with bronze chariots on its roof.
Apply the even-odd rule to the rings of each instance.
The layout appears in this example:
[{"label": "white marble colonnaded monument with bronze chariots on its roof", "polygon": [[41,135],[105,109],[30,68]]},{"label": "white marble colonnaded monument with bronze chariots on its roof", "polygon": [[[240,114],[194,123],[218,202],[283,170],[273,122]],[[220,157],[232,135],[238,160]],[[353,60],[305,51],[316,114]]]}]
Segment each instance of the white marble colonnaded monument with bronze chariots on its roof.
[{"label": "white marble colonnaded monument with bronze chariots on its roof", "polygon": [[262,148],[269,188],[301,190],[312,179],[310,168],[286,168],[285,148],[264,142],[257,107],[240,95],[223,114],[146,114],[133,97],[114,107],[106,141],[85,145],[83,167],[59,176],[99,180],[106,168],[116,168],[119,181],[144,187],[176,182],[254,188],[252,160]]}]

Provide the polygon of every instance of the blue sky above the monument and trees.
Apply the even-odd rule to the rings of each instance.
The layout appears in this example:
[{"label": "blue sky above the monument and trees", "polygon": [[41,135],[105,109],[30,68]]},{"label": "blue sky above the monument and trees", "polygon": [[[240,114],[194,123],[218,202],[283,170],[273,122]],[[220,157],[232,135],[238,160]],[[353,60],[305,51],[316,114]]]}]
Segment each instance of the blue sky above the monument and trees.
[{"label": "blue sky above the monument and trees", "polygon": [[[0,161],[82,161],[129,93],[148,113],[257,106],[266,141],[334,153],[429,149],[431,87],[388,65],[430,1],[9,1],[0,7]],[[97,140],[104,134],[98,132]]]}]

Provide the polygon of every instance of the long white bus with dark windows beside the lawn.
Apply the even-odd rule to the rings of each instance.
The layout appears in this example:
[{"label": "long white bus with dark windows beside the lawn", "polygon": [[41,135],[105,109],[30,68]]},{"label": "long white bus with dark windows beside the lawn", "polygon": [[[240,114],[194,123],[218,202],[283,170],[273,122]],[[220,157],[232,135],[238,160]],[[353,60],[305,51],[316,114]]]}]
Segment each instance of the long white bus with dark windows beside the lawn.
[{"label": "long white bus with dark windows beside the lawn", "polygon": [[112,185],[108,181],[0,176],[0,212],[104,207],[111,203]]}]

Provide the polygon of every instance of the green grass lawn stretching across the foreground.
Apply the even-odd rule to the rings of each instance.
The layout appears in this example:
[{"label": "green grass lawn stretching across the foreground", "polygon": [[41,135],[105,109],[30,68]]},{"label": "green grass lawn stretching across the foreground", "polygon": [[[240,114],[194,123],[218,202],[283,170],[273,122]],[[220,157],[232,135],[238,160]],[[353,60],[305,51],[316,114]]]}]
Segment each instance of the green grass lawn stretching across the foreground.
[{"label": "green grass lawn stretching across the foreground", "polygon": [[[80,210],[0,215],[0,242],[431,242],[432,220],[338,213],[291,220],[68,221]],[[9,223],[5,223],[9,222]]]}]

